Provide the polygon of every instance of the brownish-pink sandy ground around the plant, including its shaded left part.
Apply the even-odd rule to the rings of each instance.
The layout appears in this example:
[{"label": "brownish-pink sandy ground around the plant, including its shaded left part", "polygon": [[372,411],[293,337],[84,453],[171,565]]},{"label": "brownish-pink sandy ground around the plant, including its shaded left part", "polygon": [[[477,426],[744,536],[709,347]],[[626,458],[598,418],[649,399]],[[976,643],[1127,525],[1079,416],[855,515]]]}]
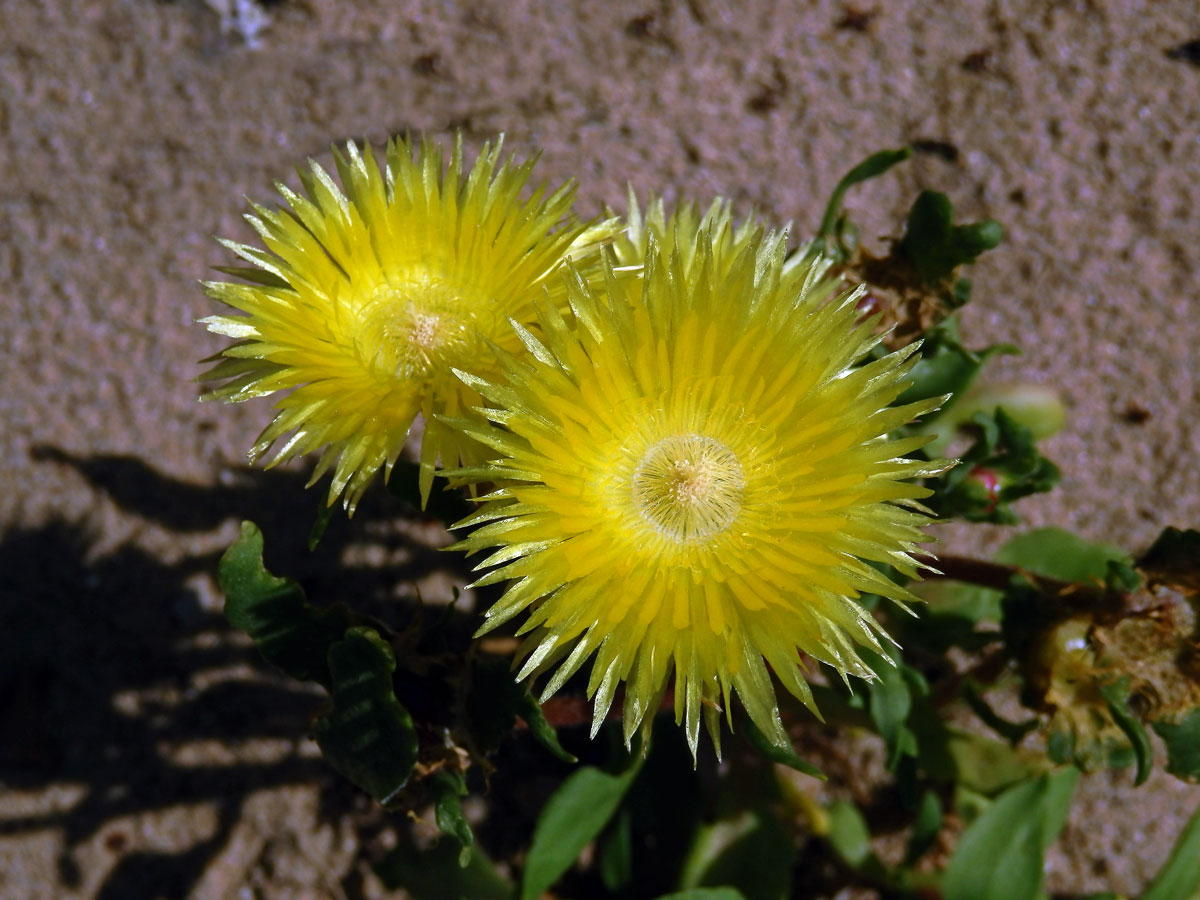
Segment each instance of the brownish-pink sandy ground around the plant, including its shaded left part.
[{"label": "brownish-pink sandy ground around the plant, including its shaded left part", "polygon": [[[252,678],[215,616],[235,520],[296,546],[314,497],[245,470],[264,406],[191,380],[220,347],[194,324],[230,262],[212,235],[248,240],[241,198],[335,140],[503,131],[584,211],[628,181],[802,229],[848,164],[919,142],[851,208],[883,239],[935,187],[1007,227],[965,332],[1022,344],[990,377],[1069,409],[1045,446],[1064,481],[1027,521],[1132,550],[1200,522],[1200,52],[1169,53],[1200,37],[1192,0],[0,0],[0,23],[5,898],[377,890],[307,700]],[[278,568],[446,594],[440,535],[370,512]],[[396,562],[403,584],[372,580]],[[1054,884],[1139,890],[1200,803],[1128,779],[1087,781]]]}]

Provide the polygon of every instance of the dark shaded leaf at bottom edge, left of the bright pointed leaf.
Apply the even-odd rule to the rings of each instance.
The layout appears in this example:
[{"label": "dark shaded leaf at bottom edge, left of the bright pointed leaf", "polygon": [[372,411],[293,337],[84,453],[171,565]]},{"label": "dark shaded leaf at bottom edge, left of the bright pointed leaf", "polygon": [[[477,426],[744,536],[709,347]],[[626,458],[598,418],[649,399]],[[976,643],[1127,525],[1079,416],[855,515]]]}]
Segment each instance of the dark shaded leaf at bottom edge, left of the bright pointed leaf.
[{"label": "dark shaded leaf at bottom edge, left of the bright pointed leaf", "polygon": [[460,857],[456,841],[443,840],[430,851],[406,841],[372,868],[384,887],[403,888],[413,900],[512,900],[514,886],[480,851],[466,866]]}]

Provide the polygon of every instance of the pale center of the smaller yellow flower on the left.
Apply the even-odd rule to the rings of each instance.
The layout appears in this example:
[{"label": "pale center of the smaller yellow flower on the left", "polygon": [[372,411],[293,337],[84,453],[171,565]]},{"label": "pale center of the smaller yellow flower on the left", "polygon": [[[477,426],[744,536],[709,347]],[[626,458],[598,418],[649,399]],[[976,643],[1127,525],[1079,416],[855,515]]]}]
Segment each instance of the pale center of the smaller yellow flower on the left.
[{"label": "pale center of the smaller yellow flower on the left", "polygon": [[480,305],[432,275],[376,289],[359,314],[362,361],[400,379],[422,379],[472,359],[479,347]]}]

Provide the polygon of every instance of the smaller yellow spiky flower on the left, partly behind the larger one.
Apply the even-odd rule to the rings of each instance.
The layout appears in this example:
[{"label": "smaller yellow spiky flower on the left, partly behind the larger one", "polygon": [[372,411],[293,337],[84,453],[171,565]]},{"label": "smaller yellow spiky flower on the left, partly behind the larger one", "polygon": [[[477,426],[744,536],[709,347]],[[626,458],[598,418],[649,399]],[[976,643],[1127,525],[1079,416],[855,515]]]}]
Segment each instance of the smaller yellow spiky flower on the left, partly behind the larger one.
[{"label": "smaller yellow spiky flower on the left, partly behind the larger one", "polygon": [[[347,144],[344,156],[334,150],[344,194],[310,161],[306,196],[277,186],[290,210],[252,204],[246,216],[266,251],[222,241],[254,268],[222,270],[246,283],[204,286],[245,313],[203,319],[235,341],[203,376],[224,382],[208,396],[282,394],[252,461],[284,436],[272,466],[323,449],[312,482],[334,467],[329,503],[344,492],[353,512],[374,473],[390,473],[419,413],[422,500],[439,458],[482,458],[433,418],[470,416],[480,403],[451,367],[490,376],[490,343],[518,353],[508,319],[530,322],[564,254],[584,253],[605,230],[569,218],[571,184],[522,200],[535,161],[502,161],[500,143],[485,144],[467,174],[461,137],[444,173],[428,142],[390,142],[383,170],[370,145]],[[560,292],[558,278],[548,283]]]}]

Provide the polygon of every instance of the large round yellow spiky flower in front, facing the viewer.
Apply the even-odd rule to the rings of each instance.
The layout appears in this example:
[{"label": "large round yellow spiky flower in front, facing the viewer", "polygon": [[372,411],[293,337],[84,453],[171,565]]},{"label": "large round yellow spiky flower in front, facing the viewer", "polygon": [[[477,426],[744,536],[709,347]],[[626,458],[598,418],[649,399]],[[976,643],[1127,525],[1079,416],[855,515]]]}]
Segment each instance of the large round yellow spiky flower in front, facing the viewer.
[{"label": "large round yellow spiky flower in front, facing the viewer", "polygon": [[448,474],[502,487],[458,546],[498,547],[476,584],[511,583],[481,631],[528,613],[518,677],[557,664],[544,698],[595,656],[593,733],[625,683],[629,740],[673,672],[694,752],[731,692],[784,744],[768,666],[811,706],[804,655],[872,677],[856,644],[881,630],[856,598],[912,599],[869,563],[917,575],[928,491],[908,479],[942,467],[888,434],[937,401],[889,407],[914,348],[859,365],[878,336],[858,294],[785,264],[782,234],[708,221],[664,251],[658,230],[643,280],[569,280],[574,326],[539,304],[529,356],[463,374],[494,408],[457,426],[499,458]]}]

